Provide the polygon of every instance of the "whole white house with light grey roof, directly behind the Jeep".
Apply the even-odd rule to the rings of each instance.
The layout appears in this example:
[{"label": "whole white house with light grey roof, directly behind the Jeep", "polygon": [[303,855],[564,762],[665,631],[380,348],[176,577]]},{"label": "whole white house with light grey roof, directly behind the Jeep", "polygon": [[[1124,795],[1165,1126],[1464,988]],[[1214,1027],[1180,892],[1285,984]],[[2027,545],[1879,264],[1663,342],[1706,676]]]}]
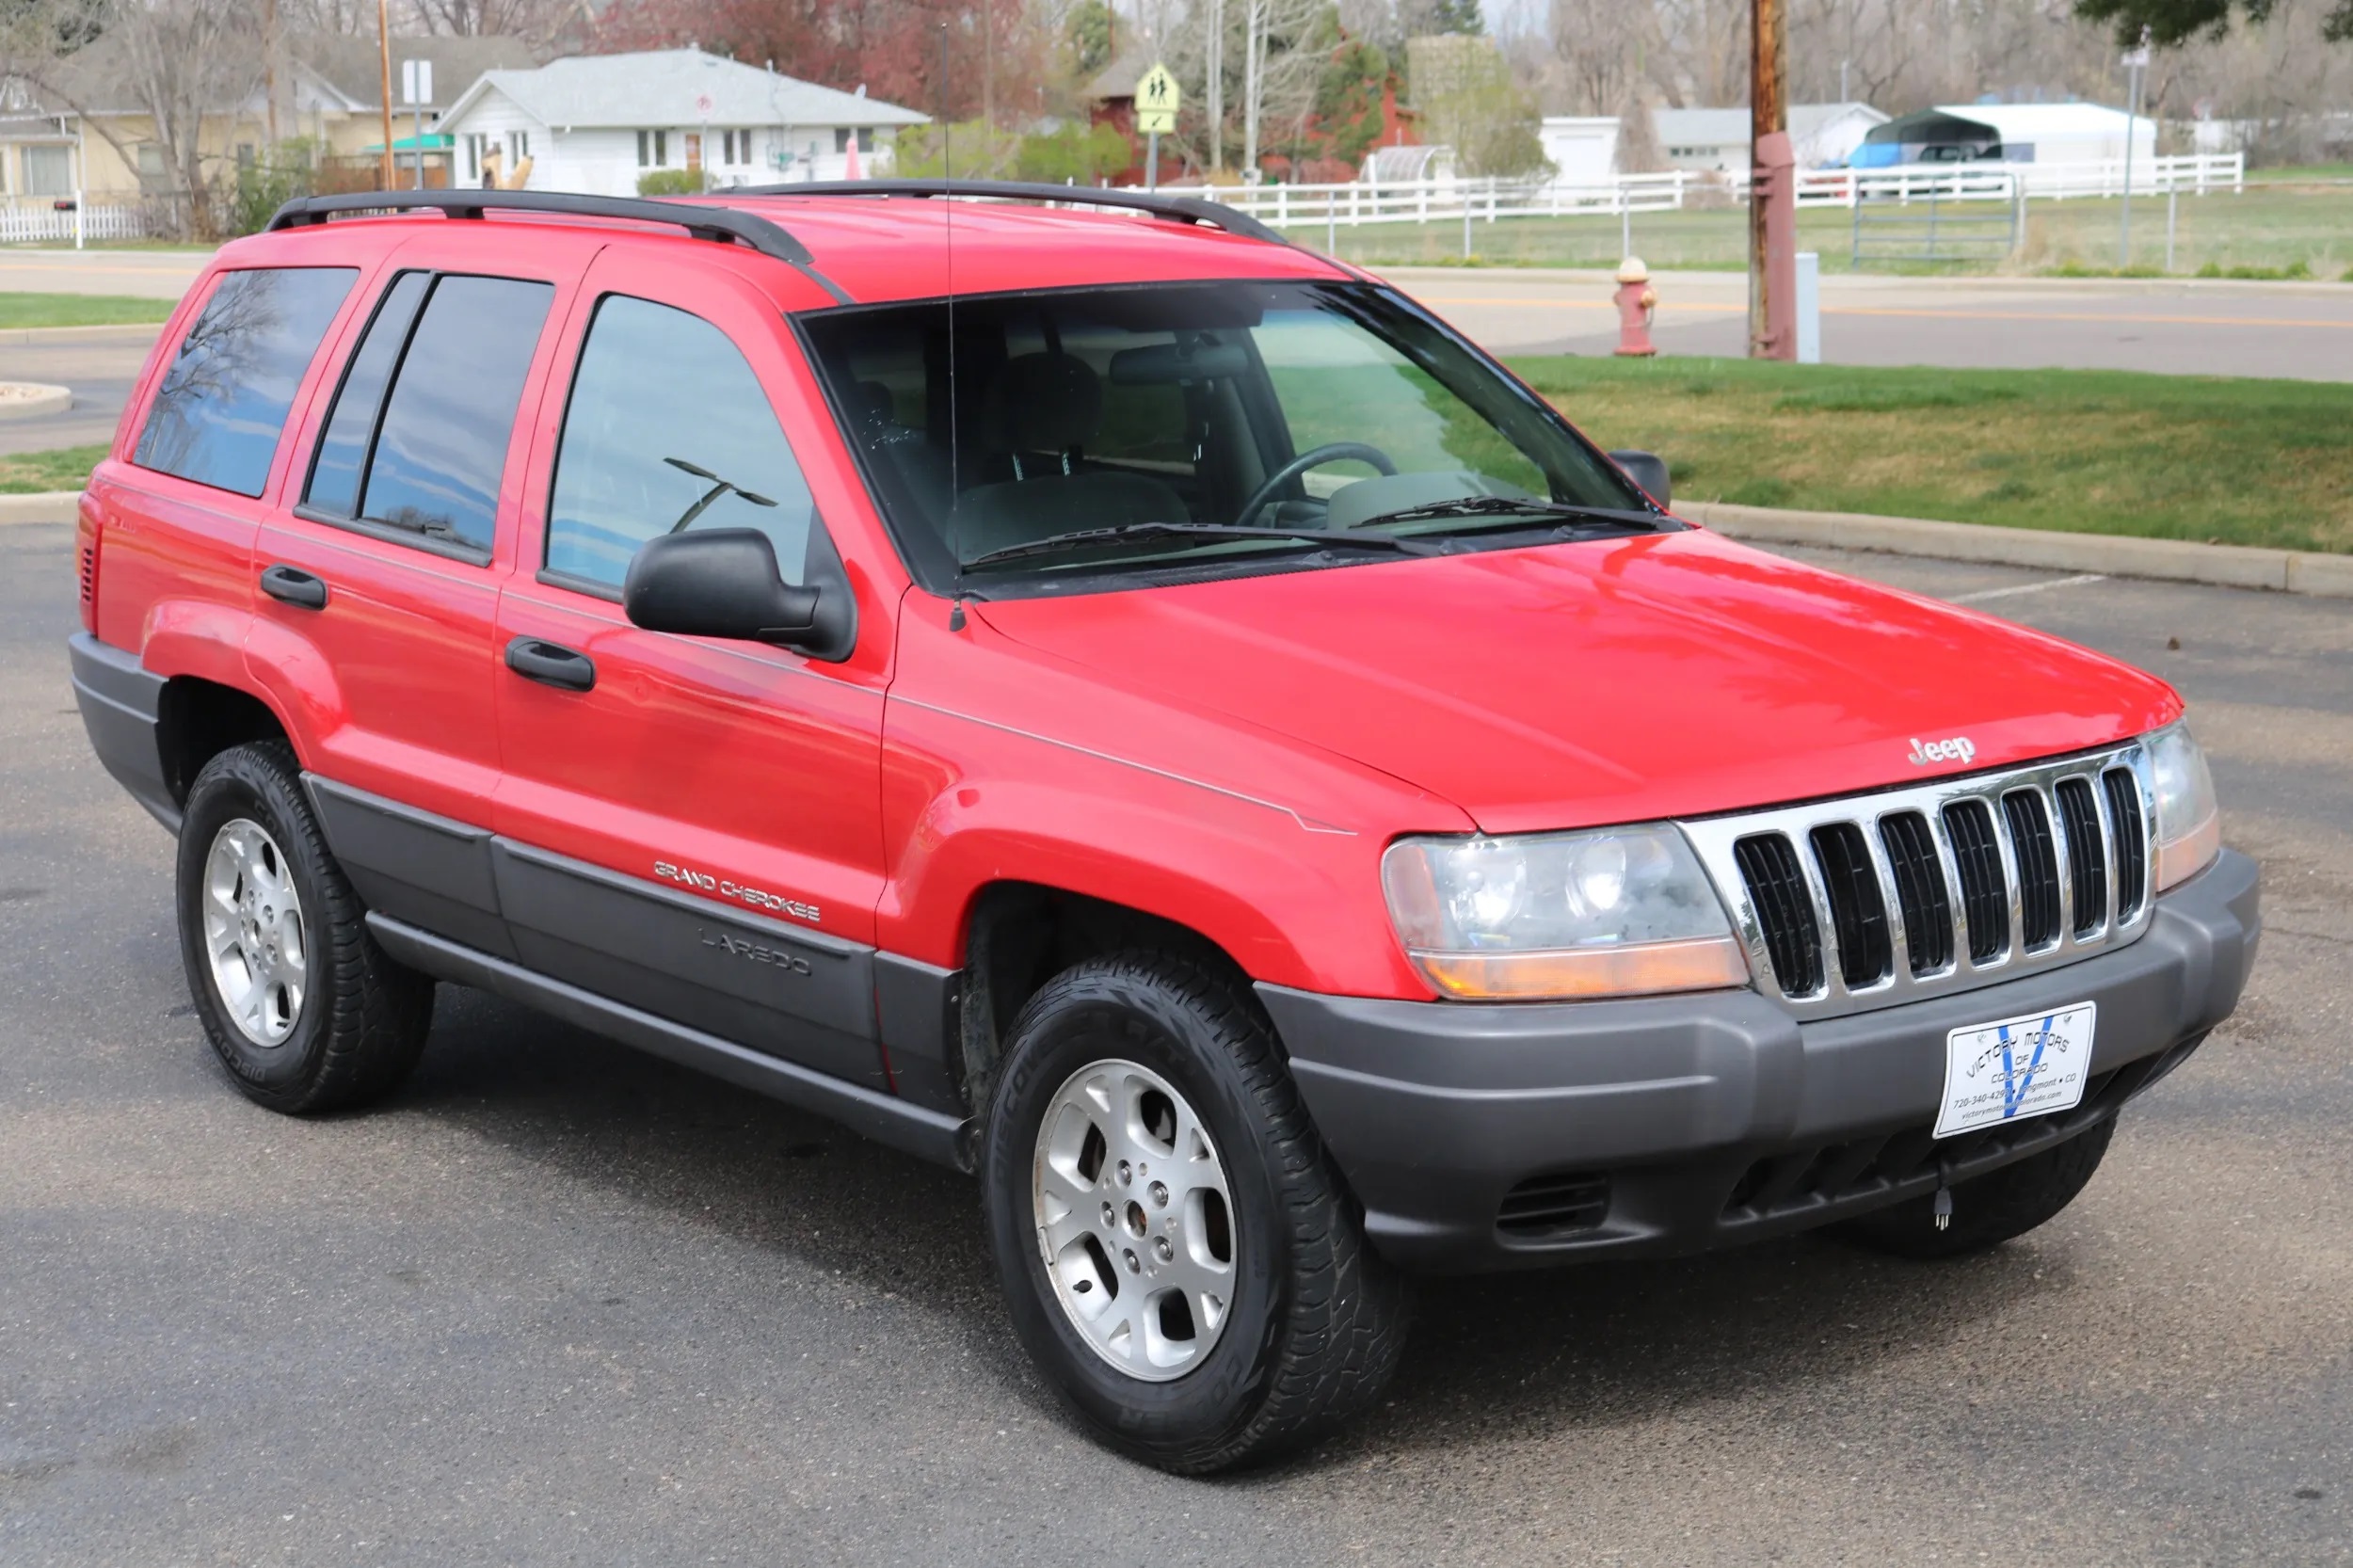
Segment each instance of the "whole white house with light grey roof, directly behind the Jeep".
[{"label": "whole white house with light grey roof, directly behind the Jeep", "polygon": [[482,184],[492,151],[527,188],[635,195],[649,170],[692,170],[711,186],[842,179],[849,141],[861,172],[887,134],[929,115],[776,75],[699,49],[574,54],[536,71],[485,71],[440,118],[456,139],[456,184]]}]

